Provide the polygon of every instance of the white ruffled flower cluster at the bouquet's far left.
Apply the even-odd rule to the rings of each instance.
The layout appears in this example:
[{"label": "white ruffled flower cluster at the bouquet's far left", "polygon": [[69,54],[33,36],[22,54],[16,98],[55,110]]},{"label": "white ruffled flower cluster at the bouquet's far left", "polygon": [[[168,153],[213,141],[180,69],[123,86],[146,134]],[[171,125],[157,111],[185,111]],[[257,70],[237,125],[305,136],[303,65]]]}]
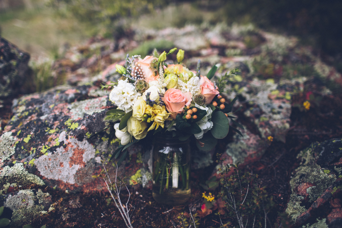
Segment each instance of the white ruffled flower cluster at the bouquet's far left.
[{"label": "white ruffled flower cluster at the bouquet's far left", "polygon": [[134,102],[140,95],[128,79],[119,80],[118,85],[111,90],[109,100],[127,113],[132,110]]}]

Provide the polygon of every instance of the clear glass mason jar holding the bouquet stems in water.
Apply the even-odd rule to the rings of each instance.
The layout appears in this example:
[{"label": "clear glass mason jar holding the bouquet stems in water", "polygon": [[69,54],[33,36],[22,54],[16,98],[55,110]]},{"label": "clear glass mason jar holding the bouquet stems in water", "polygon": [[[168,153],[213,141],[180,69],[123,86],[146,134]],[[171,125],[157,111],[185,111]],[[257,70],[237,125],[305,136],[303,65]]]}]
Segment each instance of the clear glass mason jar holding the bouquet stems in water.
[{"label": "clear glass mason jar holding the bouquet stems in water", "polygon": [[182,204],[190,197],[189,139],[155,137],[152,196],[159,203]]}]

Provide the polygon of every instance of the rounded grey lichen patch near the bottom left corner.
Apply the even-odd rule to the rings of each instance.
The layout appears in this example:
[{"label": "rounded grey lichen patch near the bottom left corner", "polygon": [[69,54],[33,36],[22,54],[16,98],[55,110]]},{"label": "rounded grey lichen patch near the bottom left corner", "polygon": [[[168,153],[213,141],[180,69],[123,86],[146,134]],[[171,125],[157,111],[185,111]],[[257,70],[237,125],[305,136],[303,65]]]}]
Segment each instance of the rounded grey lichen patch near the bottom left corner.
[{"label": "rounded grey lichen patch near the bottom left corner", "polygon": [[15,195],[9,195],[4,206],[13,211],[10,227],[21,227],[29,224],[44,210],[46,204],[51,203],[49,193],[25,189]]}]

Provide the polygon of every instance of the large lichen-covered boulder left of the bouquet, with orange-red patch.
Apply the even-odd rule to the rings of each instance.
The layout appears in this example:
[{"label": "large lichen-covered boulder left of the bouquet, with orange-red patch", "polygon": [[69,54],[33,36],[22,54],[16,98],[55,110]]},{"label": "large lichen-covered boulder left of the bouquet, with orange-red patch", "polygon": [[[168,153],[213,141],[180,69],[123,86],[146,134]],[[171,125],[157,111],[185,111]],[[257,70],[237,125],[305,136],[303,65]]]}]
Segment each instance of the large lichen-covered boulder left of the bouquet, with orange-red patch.
[{"label": "large lichen-covered boulder left of the bouquet, with orange-red patch", "polygon": [[[100,173],[101,160],[108,159],[118,145],[112,127],[103,131],[108,123],[102,119],[110,106],[108,93],[90,85],[61,86],[15,100],[14,116],[0,137],[2,192],[11,184],[21,189],[105,189],[100,178],[91,176]],[[130,152],[131,159],[136,158],[138,151]],[[109,164],[113,174],[115,168]],[[145,166],[141,162],[131,170],[122,167],[119,175],[132,176]]]}]

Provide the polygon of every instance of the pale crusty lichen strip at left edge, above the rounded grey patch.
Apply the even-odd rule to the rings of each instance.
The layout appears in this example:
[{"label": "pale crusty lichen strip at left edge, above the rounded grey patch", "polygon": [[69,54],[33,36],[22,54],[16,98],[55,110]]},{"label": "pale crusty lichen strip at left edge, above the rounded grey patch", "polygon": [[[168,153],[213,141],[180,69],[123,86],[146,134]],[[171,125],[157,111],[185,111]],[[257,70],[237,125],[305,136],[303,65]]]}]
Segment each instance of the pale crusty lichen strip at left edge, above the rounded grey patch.
[{"label": "pale crusty lichen strip at left edge, above the rounded grey patch", "polygon": [[15,163],[12,167],[5,166],[3,170],[0,171],[0,184],[6,185],[8,183],[16,183],[23,186],[29,186],[32,184],[39,186],[44,185],[42,179],[27,172],[23,163]]}]

